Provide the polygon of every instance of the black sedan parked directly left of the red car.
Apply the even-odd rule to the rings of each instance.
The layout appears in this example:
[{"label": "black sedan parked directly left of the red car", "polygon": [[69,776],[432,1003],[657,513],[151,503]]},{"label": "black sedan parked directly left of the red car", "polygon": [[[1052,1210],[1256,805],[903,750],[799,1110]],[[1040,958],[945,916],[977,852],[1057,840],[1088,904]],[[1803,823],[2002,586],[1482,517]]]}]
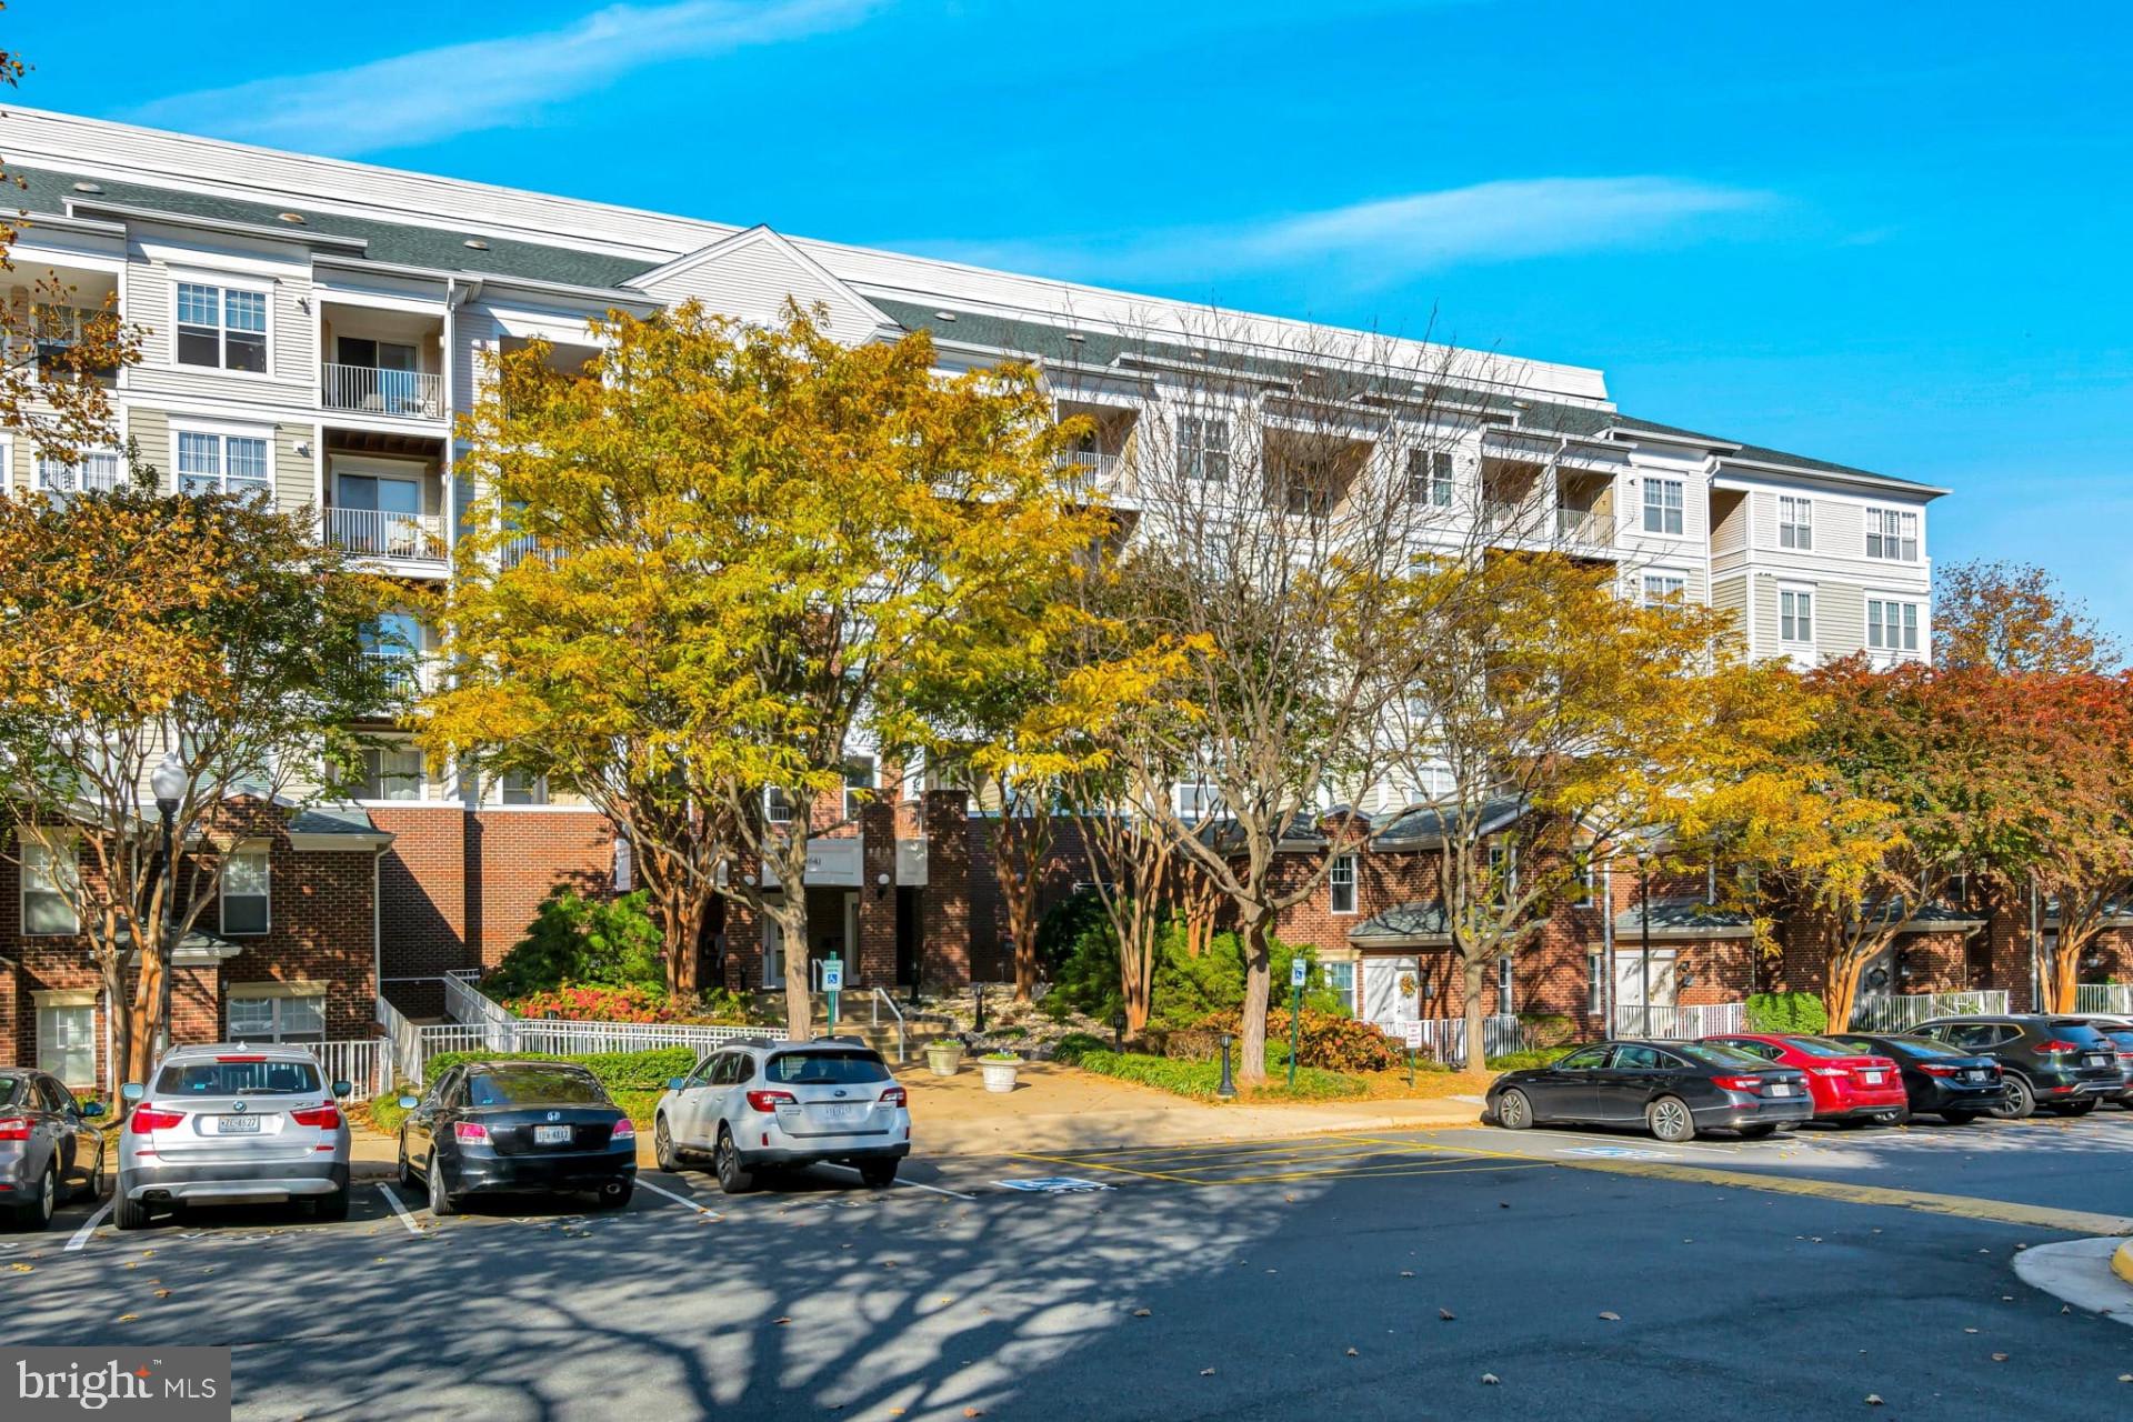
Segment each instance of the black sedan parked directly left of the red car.
[{"label": "black sedan parked directly left of the red car", "polygon": [[1489,1119],[1506,1130],[1578,1121],[1645,1126],[1668,1143],[1700,1130],[1768,1136],[1815,1115],[1807,1077],[1715,1043],[1617,1040],[1489,1083]]}]

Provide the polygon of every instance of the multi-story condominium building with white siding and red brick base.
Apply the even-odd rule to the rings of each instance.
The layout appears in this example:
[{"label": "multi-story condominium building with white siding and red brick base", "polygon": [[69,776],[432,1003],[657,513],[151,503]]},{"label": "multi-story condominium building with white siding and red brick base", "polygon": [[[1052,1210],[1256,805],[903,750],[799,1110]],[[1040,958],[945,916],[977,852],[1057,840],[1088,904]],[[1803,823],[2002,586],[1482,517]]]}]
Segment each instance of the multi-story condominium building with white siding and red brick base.
[{"label": "multi-story condominium building with white siding and red brick base", "polygon": [[[1342,339],[1218,313],[1222,350],[1209,354],[1194,337],[1203,313],[1177,303],[60,113],[13,109],[6,166],[28,213],[11,301],[49,275],[83,307],[115,298],[147,333],[141,362],[115,377],[122,433],[143,458],[175,486],[256,488],[316,510],[322,537],[410,586],[450,571],[471,501],[454,416],[484,358],[544,339],[555,360],[582,362],[587,320],[610,309],[697,298],[776,320],[787,301],[819,303],[840,339],[930,330],[951,369],[1032,358],[1062,411],[1094,420],[1081,463],[1128,495],[1120,482],[1150,439],[1194,441],[1209,473],[1224,458],[1203,424],[1143,418],[1167,367],[1150,330],[1171,333],[1169,354],[1188,365]],[[1416,367],[1436,350],[1391,348]],[[1487,480],[1538,488],[1555,533],[1617,561],[1625,591],[1736,610],[1753,657],[1926,655],[1928,505],[1945,490],[1632,418],[1595,369],[1480,352],[1442,369],[1478,414],[1421,471],[1418,497]],[[117,469],[115,452],[55,467],[0,439],[6,490],[94,486]],[[407,678],[433,674],[427,646],[414,616],[380,629],[378,655]],[[847,827],[821,842],[804,889],[819,895],[813,947],[843,949],[862,987],[1003,976],[985,836],[962,793],[919,776],[898,785],[866,746],[853,746],[851,778],[875,793],[855,795]],[[1335,866],[1322,912],[1297,912],[1284,932],[1337,964],[1359,1011],[1448,1015],[1423,993],[1442,940],[1416,902],[1408,793],[1374,795],[1384,834]],[[102,1008],[51,893],[55,872],[0,866],[0,1062],[43,1060],[87,1081]],[[435,1013],[439,974],[495,964],[557,883],[623,887],[627,874],[606,821],[559,789],[461,780],[412,748],[380,750],[363,795],[284,823],[243,876],[250,898],[224,902],[213,932],[188,944],[179,1032],[360,1036],[380,993]],[[1052,891],[1077,876],[1060,866]],[[1602,917],[1630,912],[1625,902],[1563,910],[1534,966],[1506,966],[1504,1006],[1585,1013],[1608,972]],[[1681,944],[1666,993],[1738,998],[1766,972],[1741,962],[1736,923],[1674,900],[1655,919],[1662,908],[1670,919],[1653,936]],[[1967,923],[1943,932],[1975,940]],[[757,925],[736,912],[719,932],[732,985],[781,981],[776,942]],[[1996,972],[1994,953],[1958,951],[1939,976]]]}]

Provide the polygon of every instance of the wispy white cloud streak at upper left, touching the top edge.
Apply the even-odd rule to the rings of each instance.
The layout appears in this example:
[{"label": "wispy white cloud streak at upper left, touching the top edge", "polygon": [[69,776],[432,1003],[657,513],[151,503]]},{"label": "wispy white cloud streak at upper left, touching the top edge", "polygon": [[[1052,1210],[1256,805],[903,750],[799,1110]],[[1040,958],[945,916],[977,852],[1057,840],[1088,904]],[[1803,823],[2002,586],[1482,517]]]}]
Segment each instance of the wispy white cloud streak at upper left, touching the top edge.
[{"label": "wispy white cloud streak at upper left, touching the top edge", "polygon": [[499,128],[661,60],[845,30],[883,0],[610,4],[561,30],[418,49],[316,75],[173,94],[128,119],[309,153],[373,153]]}]

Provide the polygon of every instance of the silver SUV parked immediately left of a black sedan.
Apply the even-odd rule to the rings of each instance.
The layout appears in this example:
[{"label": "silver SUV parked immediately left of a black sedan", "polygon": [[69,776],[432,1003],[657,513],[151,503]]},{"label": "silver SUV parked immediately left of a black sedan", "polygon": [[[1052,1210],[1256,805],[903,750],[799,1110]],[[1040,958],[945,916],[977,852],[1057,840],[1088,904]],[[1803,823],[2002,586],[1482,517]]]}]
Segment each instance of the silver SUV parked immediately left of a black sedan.
[{"label": "silver SUV parked immediately left of a black sedan", "polygon": [[158,1209],[311,1200],[318,1219],[348,1217],[348,1117],[303,1047],[173,1047],[119,1132],[111,1217],[139,1230]]}]

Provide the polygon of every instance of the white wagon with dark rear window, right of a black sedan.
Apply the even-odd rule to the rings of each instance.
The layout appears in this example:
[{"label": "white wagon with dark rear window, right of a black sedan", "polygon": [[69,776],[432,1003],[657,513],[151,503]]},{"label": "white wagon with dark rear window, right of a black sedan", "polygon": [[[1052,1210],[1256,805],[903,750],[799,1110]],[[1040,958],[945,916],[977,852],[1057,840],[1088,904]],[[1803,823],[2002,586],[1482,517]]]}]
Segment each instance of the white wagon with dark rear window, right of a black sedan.
[{"label": "white wagon with dark rear window, right of a black sedan", "polygon": [[881,1053],[857,1038],[729,1043],[668,1081],[653,1115],[661,1170],[710,1156],[719,1190],[768,1168],[845,1164],[872,1187],[911,1153],[911,1111]]}]

